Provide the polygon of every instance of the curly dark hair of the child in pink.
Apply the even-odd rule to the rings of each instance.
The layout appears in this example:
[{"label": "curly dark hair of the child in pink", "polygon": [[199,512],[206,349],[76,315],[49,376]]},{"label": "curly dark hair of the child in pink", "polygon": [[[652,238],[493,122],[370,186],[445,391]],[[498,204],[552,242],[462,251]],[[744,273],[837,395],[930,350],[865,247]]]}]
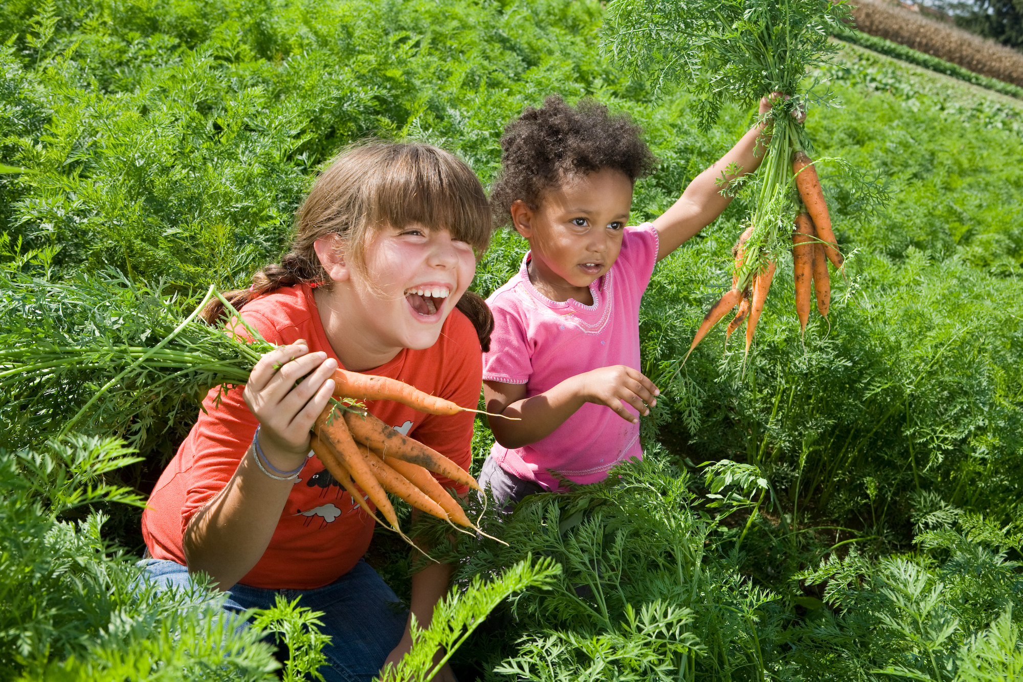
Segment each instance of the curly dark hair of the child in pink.
[{"label": "curly dark hair of the child in pink", "polygon": [[551,95],[540,109],[527,106],[501,137],[501,170],[490,193],[495,223],[510,222],[517,200],[535,209],[543,193],[567,175],[613,168],[634,183],[650,174],[657,158],[641,133],[627,114],[610,114],[593,99],[571,106]]}]

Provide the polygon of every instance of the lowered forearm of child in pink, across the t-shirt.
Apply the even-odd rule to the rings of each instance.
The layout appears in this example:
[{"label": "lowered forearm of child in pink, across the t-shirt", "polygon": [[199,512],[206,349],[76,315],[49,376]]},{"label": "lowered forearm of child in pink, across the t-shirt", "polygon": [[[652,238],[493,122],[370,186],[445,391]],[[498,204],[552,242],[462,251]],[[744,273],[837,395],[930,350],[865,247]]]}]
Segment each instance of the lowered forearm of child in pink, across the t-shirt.
[{"label": "lowered forearm of child in pink, across the t-shirt", "polygon": [[504,408],[503,416],[522,421],[490,419],[494,438],[505,447],[522,447],[546,438],[586,402],[576,383],[577,377],[571,377],[543,393]]}]

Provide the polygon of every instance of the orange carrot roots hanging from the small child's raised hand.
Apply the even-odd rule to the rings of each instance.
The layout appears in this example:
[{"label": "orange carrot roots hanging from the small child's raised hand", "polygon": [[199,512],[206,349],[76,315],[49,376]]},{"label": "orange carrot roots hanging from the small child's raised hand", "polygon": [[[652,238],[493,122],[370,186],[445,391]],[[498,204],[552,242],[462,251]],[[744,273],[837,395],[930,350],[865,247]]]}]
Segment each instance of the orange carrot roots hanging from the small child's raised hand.
[{"label": "orange carrot roots hanging from the small child's raised hand", "polygon": [[[839,271],[842,269],[844,260],[838,250],[835,232],[832,230],[831,216],[828,213],[828,204],[820,188],[820,180],[813,167],[813,162],[804,152],[794,153],[792,172],[802,202],[802,210],[796,215],[795,230],[792,233],[792,260],[796,282],[796,313],[799,315],[802,332],[805,333],[806,323],[810,314],[811,283],[816,294],[817,311],[827,318],[831,305],[828,260]],[[753,227],[750,226],[742,233],[732,248],[736,264],[731,289],[707,311],[700,329],[697,330],[696,337],[693,339],[693,345],[690,346],[690,351],[685,354],[686,358],[697,347],[697,344],[707,336],[711,328],[737,305],[739,311],[728,324],[725,338],[730,337],[746,322],[746,352],[749,353],[757,323],[760,321],[760,313],[767,300],[767,291],[770,289],[771,280],[774,276],[774,261],[769,259],[758,269],[750,271],[749,266],[757,260],[757,258],[751,258],[751,254],[746,248],[747,241],[752,235]]]}]

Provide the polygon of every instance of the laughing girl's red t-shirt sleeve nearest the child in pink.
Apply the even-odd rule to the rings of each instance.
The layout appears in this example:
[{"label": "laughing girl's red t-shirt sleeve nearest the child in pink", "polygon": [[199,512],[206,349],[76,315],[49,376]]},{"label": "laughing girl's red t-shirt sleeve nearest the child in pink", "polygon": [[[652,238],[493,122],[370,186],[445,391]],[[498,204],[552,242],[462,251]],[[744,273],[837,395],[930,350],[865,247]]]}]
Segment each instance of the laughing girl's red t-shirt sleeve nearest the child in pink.
[{"label": "laughing girl's red t-shirt sleeve nearest the child in pink", "polygon": [[[451,338],[444,344],[443,356],[436,358],[443,368],[437,394],[463,408],[475,409],[480,399],[480,341],[468,318],[452,322]],[[472,412],[429,415],[409,435],[469,471],[473,462],[474,421]],[[434,477],[443,487],[453,487],[459,495],[469,489],[444,476],[434,474]]]}]

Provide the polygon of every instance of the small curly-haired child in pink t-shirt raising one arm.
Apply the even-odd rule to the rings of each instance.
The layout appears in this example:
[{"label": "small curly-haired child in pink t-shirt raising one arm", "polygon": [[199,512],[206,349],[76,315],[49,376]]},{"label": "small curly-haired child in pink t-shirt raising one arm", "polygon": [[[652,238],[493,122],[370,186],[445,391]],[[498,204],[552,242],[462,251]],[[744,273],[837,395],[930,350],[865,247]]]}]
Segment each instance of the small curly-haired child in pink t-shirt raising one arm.
[{"label": "small curly-haired child in pink t-shirt raising one arm", "polygon": [[[774,93],[772,97],[781,96]],[[761,114],[771,102],[760,102]],[[519,272],[487,299],[494,314],[484,354],[487,411],[497,442],[484,463],[501,504],[559,478],[604,480],[642,456],[639,415],[659,390],[639,373],[639,299],[654,265],[728,206],[715,179],[760,165],[764,124],[698,175],[663,215],[627,226],[632,188],[655,158],[640,129],[592,100],[548,97],[505,128],[491,193],[498,223],[529,242]],[[616,416],[617,415],[617,416]]]}]

